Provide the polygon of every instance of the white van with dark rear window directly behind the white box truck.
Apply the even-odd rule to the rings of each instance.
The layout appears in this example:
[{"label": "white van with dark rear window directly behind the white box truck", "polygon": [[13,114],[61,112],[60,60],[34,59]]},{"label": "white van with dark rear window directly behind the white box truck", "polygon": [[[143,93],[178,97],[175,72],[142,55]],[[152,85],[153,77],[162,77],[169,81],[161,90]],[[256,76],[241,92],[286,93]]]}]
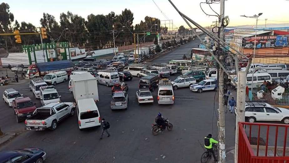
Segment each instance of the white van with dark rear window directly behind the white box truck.
[{"label": "white van with dark rear window directly behind the white box truck", "polygon": [[101,125],[99,110],[93,98],[78,100],[76,108],[80,130]]}]

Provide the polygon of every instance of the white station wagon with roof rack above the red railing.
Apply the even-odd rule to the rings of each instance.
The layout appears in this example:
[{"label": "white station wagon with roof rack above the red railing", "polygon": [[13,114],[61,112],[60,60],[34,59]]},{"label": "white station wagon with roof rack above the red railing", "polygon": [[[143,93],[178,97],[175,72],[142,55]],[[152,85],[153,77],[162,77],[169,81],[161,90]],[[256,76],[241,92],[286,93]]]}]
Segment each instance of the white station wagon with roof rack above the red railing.
[{"label": "white station wagon with roof rack above the red railing", "polygon": [[251,123],[256,121],[281,121],[284,124],[289,124],[289,110],[263,102],[246,102],[245,118]]}]

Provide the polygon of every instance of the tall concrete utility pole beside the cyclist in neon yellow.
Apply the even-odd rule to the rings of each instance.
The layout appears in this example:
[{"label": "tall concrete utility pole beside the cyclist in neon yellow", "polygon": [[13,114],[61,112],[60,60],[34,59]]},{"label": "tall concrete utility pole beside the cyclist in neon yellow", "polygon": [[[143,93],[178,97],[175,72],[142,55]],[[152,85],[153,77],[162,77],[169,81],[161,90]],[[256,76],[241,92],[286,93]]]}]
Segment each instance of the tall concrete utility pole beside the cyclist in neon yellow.
[{"label": "tall concrete utility pole beside the cyclist in neon yellow", "polygon": [[[225,12],[225,0],[220,1],[220,39],[224,40],[224,26],[222,21]],[[219,45],[220,47],[220,45]],[[223,55],[220,54],[220,60],[223,60]],[[224,106],[224,71],[219,67],[219,163],[226,162],[226,149],[225,149],[225,106]]]}]

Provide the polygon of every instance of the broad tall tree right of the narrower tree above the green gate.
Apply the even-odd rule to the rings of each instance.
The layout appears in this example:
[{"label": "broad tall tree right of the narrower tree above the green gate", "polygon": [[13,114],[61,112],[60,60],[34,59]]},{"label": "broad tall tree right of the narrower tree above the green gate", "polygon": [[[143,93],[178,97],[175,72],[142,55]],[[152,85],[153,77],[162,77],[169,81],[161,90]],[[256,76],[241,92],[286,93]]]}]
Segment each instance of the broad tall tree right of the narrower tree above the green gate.
[{"label": "broad tall tree right of the narrower tree above the green gate", "polygon": [[63,37],[75,46],[83,45],[87,41],[87,30],[85,19],[71,12],[60,14],[60,28],[69,30],[63,31]]}]

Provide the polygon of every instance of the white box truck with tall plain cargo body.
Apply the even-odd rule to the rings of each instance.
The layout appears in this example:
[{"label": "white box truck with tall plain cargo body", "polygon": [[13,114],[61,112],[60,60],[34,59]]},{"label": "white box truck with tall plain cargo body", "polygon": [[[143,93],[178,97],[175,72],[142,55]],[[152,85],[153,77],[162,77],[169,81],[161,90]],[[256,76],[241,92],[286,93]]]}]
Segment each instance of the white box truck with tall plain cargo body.
[{"label": "white box truck with tall plain cargo body", "polygon": [[95,102],[99,101],[97,81],[90,73],[70,75],[72,93],[75,101],[93,98]]}]

